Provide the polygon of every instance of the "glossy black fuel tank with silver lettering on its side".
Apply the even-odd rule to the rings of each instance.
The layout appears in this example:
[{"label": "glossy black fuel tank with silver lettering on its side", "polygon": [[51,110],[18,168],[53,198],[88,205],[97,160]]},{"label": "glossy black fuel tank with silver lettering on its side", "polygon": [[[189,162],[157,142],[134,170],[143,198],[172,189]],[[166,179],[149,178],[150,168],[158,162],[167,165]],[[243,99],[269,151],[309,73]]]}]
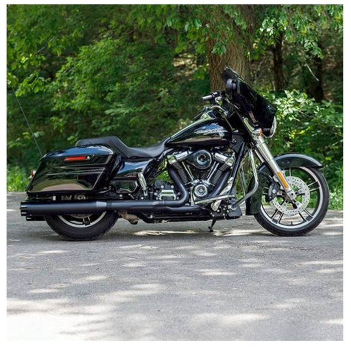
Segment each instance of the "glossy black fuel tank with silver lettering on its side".
[{"label": "glossy black fuel tank with silver lettering on its side", "polygon": [[166,146],[226,146],[232,132],[228,123],[213,112],[205,112],[200,119],[170,137]]}]

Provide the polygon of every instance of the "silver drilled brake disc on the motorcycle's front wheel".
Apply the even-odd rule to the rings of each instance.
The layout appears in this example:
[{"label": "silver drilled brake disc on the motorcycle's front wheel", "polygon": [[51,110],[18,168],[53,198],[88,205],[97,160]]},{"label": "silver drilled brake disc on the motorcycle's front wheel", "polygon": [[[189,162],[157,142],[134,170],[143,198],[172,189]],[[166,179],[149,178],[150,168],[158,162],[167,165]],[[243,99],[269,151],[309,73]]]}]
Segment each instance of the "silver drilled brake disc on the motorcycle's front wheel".
[{"label": "silver drilled brake disc on the motorcycle's front wheel", "polygon": [[270,202],[270,205],[286,216],[294,216],[307,207],[310,199],[309,189],[307,184],[300,178],[290,175],[286,177],[286,180],[290,187],[295,191],[296,199],[290,201],[285,198],[284,201],[280,203],[278,198],[275,197]]}]

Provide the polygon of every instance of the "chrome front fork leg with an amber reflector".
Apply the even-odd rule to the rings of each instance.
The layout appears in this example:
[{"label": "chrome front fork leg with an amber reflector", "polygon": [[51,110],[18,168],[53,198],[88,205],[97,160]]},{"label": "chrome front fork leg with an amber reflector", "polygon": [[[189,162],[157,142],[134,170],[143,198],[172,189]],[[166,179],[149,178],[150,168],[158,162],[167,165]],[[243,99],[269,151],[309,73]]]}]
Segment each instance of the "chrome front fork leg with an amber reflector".
[{"label": "chrome front fork leg with an amber reflector", "polygon": [[[245,121],[246,120],[246,121]],[[266,162],[268,167],[271,169],[273,175],[277,179],[278,183],[284,189],[287,198],[290,201],[294,201],[296,199],[296,194],[293,189],[290,187],[289,183],[287,182],[284,173],[282,172],[281,168],[278,166],[277,162],[274,160],[274,157],[269,150],[268,146],[266,145],[266,140],[262,136],[261,128],[253,128],[247,119],[244,119],[244,124],[250,131],[252,136],[252,141],[254,144],[254,151],[257,157],[263,162]]]}]

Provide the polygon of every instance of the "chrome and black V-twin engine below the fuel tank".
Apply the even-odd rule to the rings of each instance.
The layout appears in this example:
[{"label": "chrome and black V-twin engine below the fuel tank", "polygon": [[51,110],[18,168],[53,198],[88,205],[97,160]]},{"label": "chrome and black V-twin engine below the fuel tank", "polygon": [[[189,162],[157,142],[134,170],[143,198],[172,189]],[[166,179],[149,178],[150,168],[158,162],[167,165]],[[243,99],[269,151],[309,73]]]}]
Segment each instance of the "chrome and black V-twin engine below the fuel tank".
[{"label": "chrome and black V-twin engine below the fuel tank", "polygon": [[[167,161],[177,170],[192,199],[199,200],[207,198],[213,192],[222,174],[233,167],[235,156],[232,150],[229,153],[187,150],[168,155]],[[177,197],[171,185],[161,186],[163,188],[157,193],[158,199]]]}]

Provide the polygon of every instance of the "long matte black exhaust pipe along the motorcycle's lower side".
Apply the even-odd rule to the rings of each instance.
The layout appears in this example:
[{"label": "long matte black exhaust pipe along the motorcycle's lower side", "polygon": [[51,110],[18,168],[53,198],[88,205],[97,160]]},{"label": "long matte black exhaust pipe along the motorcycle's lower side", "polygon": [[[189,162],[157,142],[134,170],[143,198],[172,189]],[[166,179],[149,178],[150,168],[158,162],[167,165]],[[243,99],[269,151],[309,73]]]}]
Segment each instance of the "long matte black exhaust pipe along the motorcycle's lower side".
[{"label": "long matte black exhaust pipe along the motorcycle's lower side", "polygon": [[46,216],[46,215],[69,215],[90,214],[105,211],[162,211],[162,212],[198,212],[200,206],[185,206],[189,194],[174,169],[168,170],[181,196],[179,200],[162,201],[77,201],[68,203],[21,203],[22,216]]}]

